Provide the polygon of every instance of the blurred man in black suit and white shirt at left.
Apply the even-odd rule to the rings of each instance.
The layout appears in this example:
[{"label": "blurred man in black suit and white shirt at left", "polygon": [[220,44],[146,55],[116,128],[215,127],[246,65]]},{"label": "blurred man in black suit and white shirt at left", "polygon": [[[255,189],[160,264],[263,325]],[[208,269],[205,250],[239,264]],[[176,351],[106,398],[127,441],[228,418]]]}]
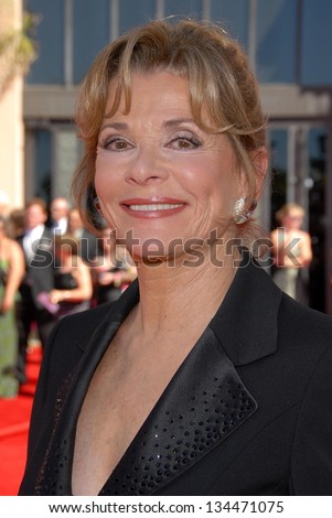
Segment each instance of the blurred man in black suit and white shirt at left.
[{"label": "blurred man in black suit and white shirt at left", "polygon": [[20,285],[18,311],[19,358],[17,375],[25,382],[26,350],[32,324],[36,324],[42,347],[55,324],[53,313],[39,299],[54,288],[53,233],[45,226],[47,207],[42,198],[33,198],[25,206],[24,233],[18,237],[25,258],[25,276]]}]

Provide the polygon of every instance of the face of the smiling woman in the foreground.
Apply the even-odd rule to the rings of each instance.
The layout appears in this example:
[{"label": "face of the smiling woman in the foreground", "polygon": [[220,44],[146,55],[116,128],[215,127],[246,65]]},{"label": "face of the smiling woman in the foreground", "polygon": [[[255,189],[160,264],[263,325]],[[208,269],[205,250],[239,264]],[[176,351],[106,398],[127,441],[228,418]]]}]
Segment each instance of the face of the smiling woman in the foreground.
[{"label": "face of the smiling woman in the foreground", "polygon": [[103,215],[117,238],[135,256],[159,250],[164,257],[216,231],[224,240],[234,237],[232,211],[245,195],[245,175],[227,137],[194,122],[186,80],[169,72],[135,74],[128,115],[122,107],[105,116],[95,175]]}]

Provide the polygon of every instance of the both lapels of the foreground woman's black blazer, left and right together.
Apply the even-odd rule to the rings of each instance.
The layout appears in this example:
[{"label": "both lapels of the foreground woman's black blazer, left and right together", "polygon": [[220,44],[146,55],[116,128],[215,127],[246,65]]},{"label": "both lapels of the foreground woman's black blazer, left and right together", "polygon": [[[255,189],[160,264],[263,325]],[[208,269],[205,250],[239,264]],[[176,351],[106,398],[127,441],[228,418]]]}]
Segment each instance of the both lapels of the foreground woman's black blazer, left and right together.
[{"label": "both lapels of the foreground woman's black blazer, left and right together", "polygon": [[[255,413],[258,404],[235,366],[276,350],[281,299],[281,292],[259,270],[253,263],[238,269],[216,315],[165,388],[100,495],[158,493]],[[86,347],[69,382],[47,451],[40,486],[42,495],[72,493],[75,427],[88,382],[138,299],[138,284],[133,282]]]}]

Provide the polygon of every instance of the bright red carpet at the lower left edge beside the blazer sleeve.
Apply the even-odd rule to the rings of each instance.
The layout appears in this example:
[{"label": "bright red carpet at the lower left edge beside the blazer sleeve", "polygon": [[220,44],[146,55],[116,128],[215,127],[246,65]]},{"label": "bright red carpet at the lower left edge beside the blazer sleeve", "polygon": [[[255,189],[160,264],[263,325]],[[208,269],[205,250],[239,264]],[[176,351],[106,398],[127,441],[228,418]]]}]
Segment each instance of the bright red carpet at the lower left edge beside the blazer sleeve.
[{"label": "bright red carpet at the lower left edge beside the blazer sleeve", "polygon": [[0,496],[14,496],[23,475],[29,420],[42,353],[28,355],[28,382],[14,399],[0,399]]}]

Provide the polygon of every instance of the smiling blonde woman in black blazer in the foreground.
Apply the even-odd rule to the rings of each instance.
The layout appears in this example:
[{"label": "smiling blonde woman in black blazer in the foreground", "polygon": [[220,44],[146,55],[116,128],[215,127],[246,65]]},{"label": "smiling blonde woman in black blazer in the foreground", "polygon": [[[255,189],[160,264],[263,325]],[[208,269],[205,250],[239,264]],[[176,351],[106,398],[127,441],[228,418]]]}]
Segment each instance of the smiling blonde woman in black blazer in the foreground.
[{"label": "smiling blonde woman in black blazer in the foreground", "polygon": [[332,321],[238,246],[267,166],[238,44],[135,29],[97,57],[77,122],[77,203],[95,188],[138,281],[53,334],[20,494],[329,494]]}]

